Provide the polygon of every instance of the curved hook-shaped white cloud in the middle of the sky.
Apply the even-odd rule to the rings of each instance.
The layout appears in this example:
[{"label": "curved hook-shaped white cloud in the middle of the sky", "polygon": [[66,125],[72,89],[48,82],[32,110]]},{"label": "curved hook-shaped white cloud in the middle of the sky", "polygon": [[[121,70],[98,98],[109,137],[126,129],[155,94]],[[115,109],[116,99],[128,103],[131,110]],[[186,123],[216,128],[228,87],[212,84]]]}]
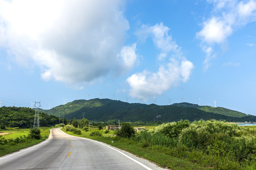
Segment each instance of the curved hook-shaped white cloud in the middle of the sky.
[{"label": "curved hook-shaped white cloud in the middle of the sky", "polygon": [[143,41],[149,36],[152,37],[155,46],[161,53],[157,56],[160,63],[157,72],[144,70],[127,78],[131,97],[142,97],[146,100],[161,95],[171,87],[189,80],[194,66],[183,56],[181,47],[168,34],[169,30],[167,26],[160,23],[155,26],[142,25],[141,29],[137,31],[136,34]]}]

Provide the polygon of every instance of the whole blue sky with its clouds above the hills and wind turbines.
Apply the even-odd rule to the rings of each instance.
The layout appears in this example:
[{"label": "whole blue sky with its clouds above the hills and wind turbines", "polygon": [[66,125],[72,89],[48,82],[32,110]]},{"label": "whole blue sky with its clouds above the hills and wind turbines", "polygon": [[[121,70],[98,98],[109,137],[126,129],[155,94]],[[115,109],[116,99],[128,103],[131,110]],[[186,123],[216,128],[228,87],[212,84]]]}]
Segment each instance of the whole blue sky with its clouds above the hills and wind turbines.
[{"label": "whole blue sky with its clouds above the hills and wind turbines", "polygon": [[256,0],[0,0],[1,106],[200,98],[256,115],[255,63]]}]

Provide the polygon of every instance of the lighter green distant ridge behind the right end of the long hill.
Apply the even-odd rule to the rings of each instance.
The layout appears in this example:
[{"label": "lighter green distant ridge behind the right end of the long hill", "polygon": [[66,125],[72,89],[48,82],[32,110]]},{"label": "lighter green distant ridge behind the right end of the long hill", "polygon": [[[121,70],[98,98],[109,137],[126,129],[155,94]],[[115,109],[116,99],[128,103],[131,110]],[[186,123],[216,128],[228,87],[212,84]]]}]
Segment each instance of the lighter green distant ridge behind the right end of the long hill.
[{"label": "lighter green distant ridge behind the right end of the long hill", "polygon": [[239,111],[235,111],[235,110],[229,110],[226,108],[222,108],[222,107],[211,107],[211,106],[199,106],[197,104],[191,104],[188,102],[183,102],[183,103],[174,103],[174,106],[180,106],[180,107],[190,107],[190,108],[196,108],[196,109],[200,109],[206,112],[211,112],[211,113],[216,113],[216,114],[222,114],[225,116],[231,116],[231,117],[237,117],[237,118],[242,118],[247,116],[247,114],[245,113],[241,113]]}]

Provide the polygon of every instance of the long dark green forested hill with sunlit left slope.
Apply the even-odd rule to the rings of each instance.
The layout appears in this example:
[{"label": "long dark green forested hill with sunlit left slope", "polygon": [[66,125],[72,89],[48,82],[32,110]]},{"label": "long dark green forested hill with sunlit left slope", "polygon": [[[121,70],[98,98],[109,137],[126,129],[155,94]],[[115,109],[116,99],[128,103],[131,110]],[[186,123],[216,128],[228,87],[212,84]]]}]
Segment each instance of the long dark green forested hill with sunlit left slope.
[{"label": "long dark green forested hill with sunlit left slope", "polygon": [[256,116],[244,117],[226,116],[207,112],[193,107],[182,107],[176,105],[158,106],[155,104],[128,103],[110,99],[75,100],[65,105],[57,106],[51,110],[43,110],[50,115],[61,117],[64,113],[66,119],[86,119],[96,121],[146,121],[167,122],[188,119],[190,121],[200,119],[225,119],[226,121],[256,121]]}]

